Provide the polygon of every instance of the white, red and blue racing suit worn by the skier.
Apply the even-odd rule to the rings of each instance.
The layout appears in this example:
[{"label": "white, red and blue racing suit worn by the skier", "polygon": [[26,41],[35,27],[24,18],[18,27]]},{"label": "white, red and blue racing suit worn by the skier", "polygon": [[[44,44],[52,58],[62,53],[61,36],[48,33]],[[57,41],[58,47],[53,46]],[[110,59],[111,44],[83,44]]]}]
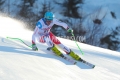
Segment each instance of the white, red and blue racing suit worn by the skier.
[{"label": "white, red and blue racing suit worn by the skier", "polygon": [[47,45],[49,47],[53,47],[53,44],[58,45],[59,47],[61,47],[66,53],[70,52],[70,49],[67,48],[66,46],[64,46],[57,38],[56,36],[50,32],[50,29],[52,28],[52,26],[56,24],[56,25],[60,25],[65,29],[68,29],[68,25],[66,23],[63,23],[61,21],[58,21],[57,19],[53,19],[53,21],[50,23],[50,25],[48,26],[45,23],[44,18],[40,19],[37,24],[36,24],[36,28],[34,30],[34,33],[32,35],[32,43],[35,44],[36,42],[36,38],[38,40],[38,42],[41,43],[47,43]]}]

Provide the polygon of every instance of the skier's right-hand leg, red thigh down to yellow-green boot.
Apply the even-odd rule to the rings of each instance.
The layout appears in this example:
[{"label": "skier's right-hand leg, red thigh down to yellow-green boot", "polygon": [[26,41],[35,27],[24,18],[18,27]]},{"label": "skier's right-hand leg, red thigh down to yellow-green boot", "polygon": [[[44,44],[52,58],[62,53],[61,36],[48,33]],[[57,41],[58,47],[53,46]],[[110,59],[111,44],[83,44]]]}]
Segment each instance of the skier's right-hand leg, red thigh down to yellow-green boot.
[{"label": "skier's right-hand leg, red thigh down to yellow-green boot", "polygon": [[70,55],[73,59],[75,60],[80,60],[81,58],[75,54],[71,49],[69,49],[68,47],[64,46],[56,37],[54,34],[50,33],[50,38],[52,40],[53,43],[55,43],[56,45],[60,46],[60,48],[62,48],[62,50],[64,50],[68,55]]}]

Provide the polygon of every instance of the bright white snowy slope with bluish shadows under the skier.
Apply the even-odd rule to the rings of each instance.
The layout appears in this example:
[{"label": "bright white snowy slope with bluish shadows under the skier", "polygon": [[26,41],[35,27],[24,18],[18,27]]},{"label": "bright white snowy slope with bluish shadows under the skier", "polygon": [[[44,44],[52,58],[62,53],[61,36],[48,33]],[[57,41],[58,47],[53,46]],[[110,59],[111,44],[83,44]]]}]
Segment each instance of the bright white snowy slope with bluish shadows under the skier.
[{"label": "bright white snowy slope with bluish shadows under the skier", "polygon": [[120,80],[120,53],[59,38],[83,59],[96,65],[90,69],[84,65],[72,65],[48,51],[47,45],[38,43],[39,51],[31,51],[19,41],[6,37],[20,38],[31,45],[32,31],[22,23],[0,17],[0,80]]}]

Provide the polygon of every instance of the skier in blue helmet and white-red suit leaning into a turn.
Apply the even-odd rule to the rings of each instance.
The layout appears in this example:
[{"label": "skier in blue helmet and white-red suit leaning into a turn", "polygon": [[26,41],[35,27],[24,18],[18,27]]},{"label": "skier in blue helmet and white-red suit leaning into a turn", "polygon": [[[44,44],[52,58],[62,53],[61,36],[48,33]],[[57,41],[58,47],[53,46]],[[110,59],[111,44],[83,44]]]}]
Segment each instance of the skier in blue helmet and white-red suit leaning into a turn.
[{"label": "skier in blue helmet and white-red suit leaning into a turn", "polygon": [[40,19],[37,24],[36,28],[34,30],[34,33],[32,35],[32,50],[37,51],[38,48],[36,46],[35,40],[37,40],[41,43],[47,43],[47,45],[50,47],[50,49],[58,56],[63,57],[64,55],[60,52],[60,50],[57,49],[55,45],[58,45],[60,48],[62,48],[63,51],[66,52],[66,54],[70,55],[75,60],[81,60],[81,58],[75,54],[71,49],[63,45],[56,36],[50,32],[50,29],[52,26],[60,25],[63,28],[65,28],[68,32],[73,32],[71,28],[68,27],[68,25],[64,22],[61,22],[54,18],[54,14],[52,12],[46,12],[44,15],[44,18]]}]

